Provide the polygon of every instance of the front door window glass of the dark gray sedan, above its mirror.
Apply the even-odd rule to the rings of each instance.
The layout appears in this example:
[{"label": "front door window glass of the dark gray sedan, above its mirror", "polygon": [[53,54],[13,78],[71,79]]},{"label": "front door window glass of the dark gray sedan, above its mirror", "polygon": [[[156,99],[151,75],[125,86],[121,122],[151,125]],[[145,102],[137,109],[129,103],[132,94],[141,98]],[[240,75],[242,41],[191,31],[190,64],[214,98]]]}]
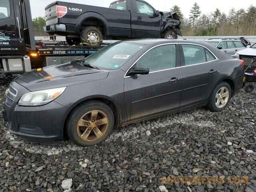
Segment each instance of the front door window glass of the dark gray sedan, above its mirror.
[{"label": "front door window glass of the dark gray sedan, above its mirror", "polygon": [[176,67],[176,45],[163,45],[147,52],[137,63],[150,72]]}]

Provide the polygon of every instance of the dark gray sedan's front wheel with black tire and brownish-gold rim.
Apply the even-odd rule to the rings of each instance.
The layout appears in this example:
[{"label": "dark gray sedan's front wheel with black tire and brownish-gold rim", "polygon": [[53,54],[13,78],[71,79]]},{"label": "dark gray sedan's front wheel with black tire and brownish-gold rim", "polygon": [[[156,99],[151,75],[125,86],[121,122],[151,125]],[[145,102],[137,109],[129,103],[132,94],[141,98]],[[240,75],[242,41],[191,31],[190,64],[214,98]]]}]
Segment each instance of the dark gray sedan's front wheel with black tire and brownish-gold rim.
[{"label": "dark gray sedan's front wheel with black tire and brownish-gold rim", "polygon": [[[95,116],[96,111],[98,111],[98,113],[96,118],[94,118],[93,116]],[[106,118],[108,124],[105,124],[107,121]],[[94,119],[95,121],[93,122]],[[90,123],[90,126],[88,126],[88,122]],[[100,125],[96,125],[99,122]],[[99,101],[90,101],[75,108],[70,114],[66,124],[69,139],[84,147],[93,146],[103,142],[108,138],[113,128],[114,114],[112,110],[109,106]]]}]

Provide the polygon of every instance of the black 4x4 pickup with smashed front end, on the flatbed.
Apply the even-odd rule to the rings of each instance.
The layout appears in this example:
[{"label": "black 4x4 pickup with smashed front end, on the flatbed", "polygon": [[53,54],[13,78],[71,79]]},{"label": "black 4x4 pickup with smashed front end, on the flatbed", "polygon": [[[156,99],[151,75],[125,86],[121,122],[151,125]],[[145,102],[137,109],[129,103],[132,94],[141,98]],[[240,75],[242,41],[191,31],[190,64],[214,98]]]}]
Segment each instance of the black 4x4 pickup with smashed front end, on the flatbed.
[{"label": "black 4x4 pickup with smashed front end, on the flatbed", "polygon": [[182,35],[176,13],[160,12],[143,0],[119,0],[109,8],[56,1],[45,10],[44,30],[50,35],[66,36],[70,45],[97,45],[103,39]]}]

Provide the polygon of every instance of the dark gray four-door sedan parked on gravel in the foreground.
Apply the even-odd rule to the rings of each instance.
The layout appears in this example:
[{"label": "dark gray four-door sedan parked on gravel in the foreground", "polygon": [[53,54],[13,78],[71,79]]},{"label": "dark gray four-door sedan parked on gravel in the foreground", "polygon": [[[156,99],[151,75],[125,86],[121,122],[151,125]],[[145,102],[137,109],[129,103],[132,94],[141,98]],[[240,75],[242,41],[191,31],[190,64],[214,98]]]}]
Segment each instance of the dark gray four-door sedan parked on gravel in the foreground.
[{"label": "dark gray four-door sedan parked on gravel in the foreground", "polygon": [[24,138],[91,146],[114,127],[201,106],[224,110],[242,87],[242,65],[198,42],[118,42],[19,76],[6,92],[4,116]]}]

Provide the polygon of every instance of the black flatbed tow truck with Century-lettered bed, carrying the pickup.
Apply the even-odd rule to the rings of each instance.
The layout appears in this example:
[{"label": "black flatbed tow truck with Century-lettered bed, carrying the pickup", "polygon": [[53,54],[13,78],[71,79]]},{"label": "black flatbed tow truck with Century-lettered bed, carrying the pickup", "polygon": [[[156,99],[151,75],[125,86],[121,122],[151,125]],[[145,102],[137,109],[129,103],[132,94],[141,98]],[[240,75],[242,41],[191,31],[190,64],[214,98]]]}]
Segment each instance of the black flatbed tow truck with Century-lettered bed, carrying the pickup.
[{"label": "black flatbed tow truck with Century-lettered bed, carrying the pickup", "polygon": [[80,60],[104,46],[38,43],[34,39],[29,0],[0,1],[0,74],[23,74]]}]

